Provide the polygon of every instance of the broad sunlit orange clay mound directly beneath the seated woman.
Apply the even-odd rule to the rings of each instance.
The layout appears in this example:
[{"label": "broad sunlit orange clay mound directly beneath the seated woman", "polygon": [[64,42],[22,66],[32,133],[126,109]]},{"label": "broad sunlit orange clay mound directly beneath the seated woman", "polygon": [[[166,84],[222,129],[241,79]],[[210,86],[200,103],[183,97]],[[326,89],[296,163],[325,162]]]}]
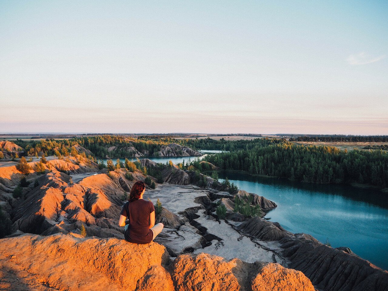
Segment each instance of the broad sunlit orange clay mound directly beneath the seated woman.
[{"label": "broad sunlit orange clay mound directly beneath the seated woman", "polygon": [[27,270],[40,290],[106,291],[123,286],[126,290],[174,290],[163,267],[169,261],[168,253],[154,242],[141,245],[113,238],[26,234],[2,239],[0,260],[11,263],[14,273]]}]

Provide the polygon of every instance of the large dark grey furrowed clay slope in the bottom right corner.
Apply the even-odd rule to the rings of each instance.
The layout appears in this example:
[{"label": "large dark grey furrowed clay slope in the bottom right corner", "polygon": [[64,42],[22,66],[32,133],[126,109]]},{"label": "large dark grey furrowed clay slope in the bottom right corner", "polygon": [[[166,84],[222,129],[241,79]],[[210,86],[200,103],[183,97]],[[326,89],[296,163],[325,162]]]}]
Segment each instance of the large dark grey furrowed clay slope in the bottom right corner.
[{"label": "large dark grey furrowed clay slope in the bottom right corner", "polygon": [[386,291],[388,272],[342,249],[334,249],[305,236],[282,239],[290,267],[303,272],[322,290]]}]

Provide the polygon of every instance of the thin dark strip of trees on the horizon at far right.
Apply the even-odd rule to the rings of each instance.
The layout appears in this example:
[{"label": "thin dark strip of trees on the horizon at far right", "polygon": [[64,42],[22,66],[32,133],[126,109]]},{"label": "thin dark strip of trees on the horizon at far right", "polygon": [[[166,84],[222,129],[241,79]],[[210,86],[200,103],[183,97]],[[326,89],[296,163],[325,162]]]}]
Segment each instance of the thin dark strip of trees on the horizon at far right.
[{"label": "thin dark strip of trees on the horizon at far right", "polygon": [[388,135],[333,135],[291,137],[290,142],[388,142]]}]

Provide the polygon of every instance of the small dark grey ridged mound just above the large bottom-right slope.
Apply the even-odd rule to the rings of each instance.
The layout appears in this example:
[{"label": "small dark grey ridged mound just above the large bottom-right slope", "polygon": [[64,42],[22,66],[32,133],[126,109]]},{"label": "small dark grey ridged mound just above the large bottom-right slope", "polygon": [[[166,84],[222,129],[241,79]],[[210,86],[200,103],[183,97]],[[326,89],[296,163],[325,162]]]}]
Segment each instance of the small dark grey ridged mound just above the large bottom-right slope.
[{"label": "small dark grey ridged mound just above the large bottom-right slope", "polygon": [[285,230],[279,223],[270,222],[258,217],[253,217],[241,223],[236,229],[260,241],[279,241],[284,237],[293,236],[291,232]]}]

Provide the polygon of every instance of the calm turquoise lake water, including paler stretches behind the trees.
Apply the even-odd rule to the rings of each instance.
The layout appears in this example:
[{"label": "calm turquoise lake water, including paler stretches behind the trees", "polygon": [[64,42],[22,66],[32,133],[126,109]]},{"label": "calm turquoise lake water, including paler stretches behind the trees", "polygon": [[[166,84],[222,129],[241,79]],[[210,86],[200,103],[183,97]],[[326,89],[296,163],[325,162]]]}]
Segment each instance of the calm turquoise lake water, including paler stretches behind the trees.
[{"label": "calm turquoise lake water, including paler stretches behind the trees", "polygon": [[[171,160],[178,164],[196,158],[149,159],[157,163]],[[102,160],[106,163],[106,159]],[[387,194],[348,185],[290,182],[234,172],[220,172],[219,177],[220,181],[228,177],[239,189],[274,201],[278,207],[266,217],[279,222],[285,229],[311,234],[323,243],[328,240],[334,248],[347,246],[365,260],[388,270]]]}]

